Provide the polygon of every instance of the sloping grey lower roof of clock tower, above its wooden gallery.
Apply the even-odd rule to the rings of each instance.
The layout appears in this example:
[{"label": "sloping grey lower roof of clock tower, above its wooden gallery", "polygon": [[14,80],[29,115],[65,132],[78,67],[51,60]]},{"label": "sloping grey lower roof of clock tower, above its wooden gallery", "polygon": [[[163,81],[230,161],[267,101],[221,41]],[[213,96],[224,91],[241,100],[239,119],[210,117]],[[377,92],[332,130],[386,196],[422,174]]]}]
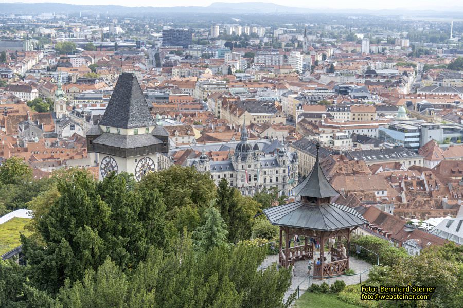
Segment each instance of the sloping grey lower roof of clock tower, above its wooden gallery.
[{"label": "sloping grey lower roof of clock tower, above its wooden gallery", "polygon": [[139,135],[118,135],[112,133],[103,133],[101,136],[93,140],[93,143],[101,144],[102,146],[111,146],[123,149],[132,149],[140,147],[148,147],[153,144],[162,144],[163,142],[151,134]]}]

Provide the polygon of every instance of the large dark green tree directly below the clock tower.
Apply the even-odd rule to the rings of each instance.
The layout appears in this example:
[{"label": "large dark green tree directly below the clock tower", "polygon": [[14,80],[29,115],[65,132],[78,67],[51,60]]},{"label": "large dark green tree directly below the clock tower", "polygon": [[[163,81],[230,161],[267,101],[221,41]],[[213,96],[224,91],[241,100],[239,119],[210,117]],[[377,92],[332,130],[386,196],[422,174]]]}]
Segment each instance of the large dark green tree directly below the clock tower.
[{"label": "large dark green tree directly below the clock tower", "polygon": [[[164,245],[161,195],[130,189],[126,178],[113,174],[95,182],[75,170],[70,179],[58,181],[59,196],[50,193],[49,209],[42,206],[43,215],[34,215],[40,237],[22,238],[34,285],[54,293],[65,279],[82,279],[86,269],[97,268],[107,256],[121,268],[136,267],[149,246]],[[35,200],[35,209],[39,202],[45,201]]]}]

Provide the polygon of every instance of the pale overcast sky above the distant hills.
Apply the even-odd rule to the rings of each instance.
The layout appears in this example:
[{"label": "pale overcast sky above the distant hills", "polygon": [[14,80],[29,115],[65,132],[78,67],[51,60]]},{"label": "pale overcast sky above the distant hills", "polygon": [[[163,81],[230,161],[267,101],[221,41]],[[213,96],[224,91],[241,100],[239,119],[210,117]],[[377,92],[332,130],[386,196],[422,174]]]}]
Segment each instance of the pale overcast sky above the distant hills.
[{"label": "pale overcast sky above the distant hills", "polygon": [[[417,10],[422,9],[437,9],[437,10],[452,10],[452,7],[457,5],[462,7],[463,3],[459,3],[460,0],[387,0],[387,1],[378,1],[378,0],[329,0],[326,2],[315,2],[307,0],[269,0],[261,2],[272,2],[285,6],[294,6],[294,7],[305,7],[305,8],[363,8],[370,10],[377,9],[397,9],[397,8],[413,8]],[[170,0],[170,1],[159,1],[159,0],[20,0],[20,1],[4,1],[2,2],[26,2],[26,3],[41,3],[41,2],[59,2],[59,3],[69,3],[69,4],[112,4],[112,5],[122,5],[122,6],[154,6],[154,7],[171,7],[171,6],[208,6],[213,2],[258,2],[250,0]],[[1,8],[1,5],[0,5]],[[404,12],[405,13],[405,12]]]}]

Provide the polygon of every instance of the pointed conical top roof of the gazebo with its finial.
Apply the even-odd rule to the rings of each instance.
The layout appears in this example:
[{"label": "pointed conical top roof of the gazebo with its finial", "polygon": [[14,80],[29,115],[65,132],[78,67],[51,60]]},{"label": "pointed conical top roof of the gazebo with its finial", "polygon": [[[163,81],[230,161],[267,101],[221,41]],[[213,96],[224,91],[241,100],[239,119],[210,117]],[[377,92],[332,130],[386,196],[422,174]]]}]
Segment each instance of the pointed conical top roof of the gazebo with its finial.
[{"label": "pointed conical top roof of the gazebo with its finial", "polygon": [[339,193],[328,182],[328,179],[323,173],[322,166],[320,166],[320,161],[318,160],[318,153],[320,150],[319,142],[317,142],[316,147],[317,158],[315,160],[315,165],[309,176],[293,188],[293,193],[295,195],[314,198],[335,197],[339,195]]}]

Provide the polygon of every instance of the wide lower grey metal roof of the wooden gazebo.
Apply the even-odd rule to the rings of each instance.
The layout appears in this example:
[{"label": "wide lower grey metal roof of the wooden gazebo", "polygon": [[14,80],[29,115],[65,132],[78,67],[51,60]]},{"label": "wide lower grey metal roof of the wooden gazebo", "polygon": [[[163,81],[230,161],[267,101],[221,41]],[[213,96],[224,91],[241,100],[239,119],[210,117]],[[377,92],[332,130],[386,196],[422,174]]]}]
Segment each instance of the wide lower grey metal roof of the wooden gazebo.
[{"label": "wide lower grey metal roof of the wooden gazebo", "polygon": [[335,203],[320,206],[296,201],[263,210],[272,225],[335,231],[368,223],[357,211]]}]

